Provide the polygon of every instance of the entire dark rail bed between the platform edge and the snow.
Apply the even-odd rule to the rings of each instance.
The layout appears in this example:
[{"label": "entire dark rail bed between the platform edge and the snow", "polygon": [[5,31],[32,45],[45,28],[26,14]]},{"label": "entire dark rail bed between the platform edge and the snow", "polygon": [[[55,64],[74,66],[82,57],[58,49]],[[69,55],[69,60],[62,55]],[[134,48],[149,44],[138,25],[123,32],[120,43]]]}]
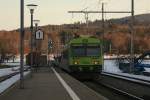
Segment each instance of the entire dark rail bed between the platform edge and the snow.
[{"label": "entire dark rail bed between the platform edge and the snow", "polygon": [[78,80],[110,100],[150,100],[148,80],[107,72],[94,80]]}]

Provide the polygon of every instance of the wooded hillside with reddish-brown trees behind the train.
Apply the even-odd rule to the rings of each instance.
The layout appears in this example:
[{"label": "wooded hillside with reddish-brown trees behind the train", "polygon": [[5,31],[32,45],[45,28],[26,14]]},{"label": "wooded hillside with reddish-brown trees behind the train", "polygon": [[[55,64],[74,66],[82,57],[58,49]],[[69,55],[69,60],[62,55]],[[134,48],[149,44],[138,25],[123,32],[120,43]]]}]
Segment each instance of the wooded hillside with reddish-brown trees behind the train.
[{"label": "wooded hillside with reddish-brown trees behind the train", "polygon": [[[115,52],[127,53],[130,48],[130,17],[120,19],[111,19],[105,23],[105,39],[111,41],[112,49]],[[150,49],[150,14],[142,14],[135,16],[135,50],[143,52]],[[73,34],[91,34],[99,38],[102,37],[101,21],[96,20],[89,23],[89,28],[86,28],[85,23],[64,24],[64,25],[45,25],[40,28],[44,30],[45,37],[43,41],[38,41],[37,49],[42,52],[47,52],[48,39],[53,41],[53,50],[57,53],[61,51],[62,44],[73,37]],[[118,42],[119,41],[119,42]],[[30,48],[30,31],[25,30],[25,53],[29,52]],[[5,49],[4,49],[5,48]],[[0,53],[18,54],[19,51],[19,31],[0,31]]]}]

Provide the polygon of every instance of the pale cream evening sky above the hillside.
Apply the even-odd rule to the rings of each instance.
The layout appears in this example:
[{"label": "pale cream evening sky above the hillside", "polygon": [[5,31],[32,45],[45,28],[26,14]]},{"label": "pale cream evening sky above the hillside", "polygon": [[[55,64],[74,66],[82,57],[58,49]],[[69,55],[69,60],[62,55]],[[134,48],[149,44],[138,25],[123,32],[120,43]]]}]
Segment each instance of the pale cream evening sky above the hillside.
[{"label": "pale cream evening sky above the hillside", "polygon": [[[40,26],[47,24],[67,24],[76,21],[85,22],[83,14],[69,14],[72,10],[101,10],[101,2],[105,2],[105,10],[131,10],[131,0],[24,0],[25,27],[30,26],[30,12],[27,4],[37,4],[34,19],[40,20]],[[135,14],[150,13],[150,0],[135,0]],[[20,0],[0,0],[0,30],[13,30],[20,27]],[[105,14],[105,19],[120,18],[129,14]],[[90,14],[90,20],[101,19],[100,14]]]}]

